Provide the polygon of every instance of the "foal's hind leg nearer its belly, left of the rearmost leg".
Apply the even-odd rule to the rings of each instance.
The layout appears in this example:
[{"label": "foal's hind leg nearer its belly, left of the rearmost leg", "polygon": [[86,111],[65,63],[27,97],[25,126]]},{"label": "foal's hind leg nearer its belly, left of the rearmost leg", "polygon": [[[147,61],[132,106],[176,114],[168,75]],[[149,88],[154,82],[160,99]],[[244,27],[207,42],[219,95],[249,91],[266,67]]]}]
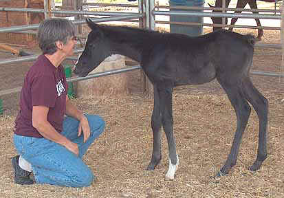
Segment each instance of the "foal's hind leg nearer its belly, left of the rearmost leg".
[{"label": "foal's hind leg nearer its belly, left of the rearmost leg", "polygon": [[237,83],[230,84],[226,82],[222,82],[220,79],[218,79],[219,83],[225,89],[226,94],[228,95],[228,98],[234,107],[234,111],[237,115],[237,129],[234,134],[234,140],[232,142],[232,147],[230,150],[230,154],[228,155],[228,158],[219,171],[217,173],[217,177],[221,175],[226,175],[230,168],[234,166],[237,163],[237,156],[239,153],[239,146],[241,144],[241,137],[243,135],[243,131],[245,130],[245,126],[248,124],[248,118],[250,117],[250,104],[248,104],[247,100],[245,100],[245,97],[242,93],[242,87],[239,87]]}]

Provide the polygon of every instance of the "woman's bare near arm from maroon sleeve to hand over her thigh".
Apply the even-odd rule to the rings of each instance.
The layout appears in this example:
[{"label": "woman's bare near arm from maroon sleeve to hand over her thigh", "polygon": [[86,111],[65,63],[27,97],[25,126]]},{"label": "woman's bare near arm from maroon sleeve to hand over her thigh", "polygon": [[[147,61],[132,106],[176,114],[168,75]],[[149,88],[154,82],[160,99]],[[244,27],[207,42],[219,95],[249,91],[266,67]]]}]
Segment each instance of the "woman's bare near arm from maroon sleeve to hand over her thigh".
[{"label": "woman's bare near arm from maroon sleeve to hand over her thigh", "polygon": [[45,137],[46,139],[61,144],[62,146],[65,146],[67,149],[69,149],[69,151],[72,151],[73,153],[78,155],[78,145],[68,140],[66,137],[61,135],[61,133],[58,133],[54,129],[52,124],[47,121],[48,111],[48,107],[32,107],[32,126],[34,126],[34,128],[36,128],[36,130],[39,131],[39,133],[43,135],[43,137]]}]

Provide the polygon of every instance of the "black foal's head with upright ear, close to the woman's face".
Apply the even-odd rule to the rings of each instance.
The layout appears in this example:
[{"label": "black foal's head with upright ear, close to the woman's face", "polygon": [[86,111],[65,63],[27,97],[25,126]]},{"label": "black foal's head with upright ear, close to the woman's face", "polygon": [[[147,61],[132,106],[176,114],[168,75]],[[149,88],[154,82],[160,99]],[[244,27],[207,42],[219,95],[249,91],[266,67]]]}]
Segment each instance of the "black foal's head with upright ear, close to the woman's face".
[{"label": "black foal's head with upright ear, close to the woman's face", "polygon": [[88,34],[85,49],[76,63],[74,73],[78,76],[87,76],[107,56],[111,55],[102,28],[91,19],[86,19],[86,21],[89,28],[91,28],[91,32]]}]

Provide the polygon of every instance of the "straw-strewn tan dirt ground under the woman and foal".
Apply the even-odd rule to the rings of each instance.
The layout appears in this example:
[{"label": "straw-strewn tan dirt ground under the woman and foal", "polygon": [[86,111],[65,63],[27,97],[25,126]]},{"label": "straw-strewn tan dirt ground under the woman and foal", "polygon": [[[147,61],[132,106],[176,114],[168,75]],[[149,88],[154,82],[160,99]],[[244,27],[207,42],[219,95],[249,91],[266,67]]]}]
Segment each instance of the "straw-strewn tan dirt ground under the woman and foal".
[{"label": "straw-strewn tan dirt ground under the woman and foal", "polygon": [[[278,31],[265,30],[263,37],[262,43],[280,43]],[[8,57],[11,55],[0,53],[0,58]],[[0,90],[21,86],[31,64],[1,65]],[[279,73],[281,50],[256,48],[252,70]],[[146,171],[153,141],[153,99],[142,93],[140,72],[129,75],[130,94],[73,100],[80,109],[101,115],[107,123],[105,132],[83,158],[97,177],[87,188],[13,183],[10,158],[16,155],[12,133],[19,94],[0,96],[4,109],[4,115],[0,116],[0,197],[284,197],[283,78],[252,76],[254,85],[270,102],[269,155],[263,166],[255,173],[248,171],[256,157],[259,131],[256,113],[252,111],[237,165],[219,179],[210,176],[217,173],[230,152],[236,128],[234,110],[215,80],[175,88],[173,116],[180,165],[175,180],[164,181],[168,168],[166,138],[162,136],[160,165],[154,171]]]}]

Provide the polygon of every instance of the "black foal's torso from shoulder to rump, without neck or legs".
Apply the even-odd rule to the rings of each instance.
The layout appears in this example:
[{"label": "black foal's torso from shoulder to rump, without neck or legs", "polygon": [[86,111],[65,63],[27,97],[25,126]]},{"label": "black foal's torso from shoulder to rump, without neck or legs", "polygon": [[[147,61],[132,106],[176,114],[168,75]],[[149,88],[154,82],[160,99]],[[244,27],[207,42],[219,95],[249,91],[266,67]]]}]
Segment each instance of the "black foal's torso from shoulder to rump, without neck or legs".
[{"label": "black foal's torso from shoulder to rump, without neck or legs", "polygon": [[208,83],[222,73],[248,74],[254,52],[253,36],[226,30],[196,37],[149,34],[149,41],[142,67],[153,82],[175,86]]}]

